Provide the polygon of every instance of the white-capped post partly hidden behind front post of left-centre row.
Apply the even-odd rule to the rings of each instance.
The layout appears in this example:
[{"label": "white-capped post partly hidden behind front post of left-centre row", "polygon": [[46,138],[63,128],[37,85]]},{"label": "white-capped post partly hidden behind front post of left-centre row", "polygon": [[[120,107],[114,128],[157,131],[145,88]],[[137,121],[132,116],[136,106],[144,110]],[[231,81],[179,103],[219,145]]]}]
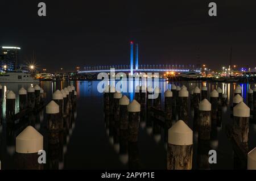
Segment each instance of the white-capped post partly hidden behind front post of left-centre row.
[{"label": "white-capped post partly hidden behind front post of left-centre row", "polygon": [[63,131],[63,94],[61,93],[60,90],[56,90],[53,94],[52,94],[52,100],[54,100],[55,103],[57,103],[59,105],[59,110],[60,110],[60,114],[59,114],[59,131]]}]

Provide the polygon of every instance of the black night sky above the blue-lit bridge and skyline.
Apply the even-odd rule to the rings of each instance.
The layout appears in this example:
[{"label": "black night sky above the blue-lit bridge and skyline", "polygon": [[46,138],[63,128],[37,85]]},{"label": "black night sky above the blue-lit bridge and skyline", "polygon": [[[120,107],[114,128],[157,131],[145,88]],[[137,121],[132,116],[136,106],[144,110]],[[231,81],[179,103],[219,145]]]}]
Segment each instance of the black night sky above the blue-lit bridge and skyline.
[{"label": "black night sky above the blue-lit bridge and skyline", "polygon": [[[45,2],[47,16],[38,16]],[[217,3],[217,17],[208,3]],[[141,64],[232,62],[256,66],[255,0],[179,1],[0,1],[0,46],[35,52],[39,68],[129,64],[129,41],[139,43]]]}]

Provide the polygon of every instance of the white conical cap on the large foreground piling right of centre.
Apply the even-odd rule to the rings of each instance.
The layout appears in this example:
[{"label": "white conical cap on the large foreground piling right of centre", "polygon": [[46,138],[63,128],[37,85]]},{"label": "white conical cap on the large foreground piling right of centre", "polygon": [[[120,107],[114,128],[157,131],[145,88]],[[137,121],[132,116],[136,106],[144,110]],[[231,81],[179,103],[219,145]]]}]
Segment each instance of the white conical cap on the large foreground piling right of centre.
[{"label": "white conical cap on the large foreground piling right of centre", "polygon": [[168,144],[193,145],[193,131],[183,120],[177,121],[168,130]]}]

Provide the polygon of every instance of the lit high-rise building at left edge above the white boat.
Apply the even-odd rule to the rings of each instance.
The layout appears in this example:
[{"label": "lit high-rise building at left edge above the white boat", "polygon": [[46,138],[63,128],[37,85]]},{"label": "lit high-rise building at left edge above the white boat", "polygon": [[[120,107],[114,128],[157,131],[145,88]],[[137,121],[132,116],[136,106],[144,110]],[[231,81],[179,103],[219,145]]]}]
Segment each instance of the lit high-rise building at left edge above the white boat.
[{"label": "lit high-rise building at left edge above the white boat", "polygon": [[0,66],[1,70],[19,69],[20,48],[19,47],[0,47]]}]

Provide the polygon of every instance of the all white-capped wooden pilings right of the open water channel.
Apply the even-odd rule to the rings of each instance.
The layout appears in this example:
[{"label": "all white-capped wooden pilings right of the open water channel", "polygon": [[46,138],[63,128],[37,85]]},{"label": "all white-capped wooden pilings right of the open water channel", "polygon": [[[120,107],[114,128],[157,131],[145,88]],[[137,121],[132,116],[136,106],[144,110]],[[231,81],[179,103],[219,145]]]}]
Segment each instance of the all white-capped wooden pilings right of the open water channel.
[{"label": "all white-capped wooden pilings right of the open water channel", "polygon": [[[234,91],[232,131],[241,142],[247,142],[250,108],[241,99],[237,100],[241,96],[240,88],[240,86],[237,86]],[[158,94],[158,96],[149,99],[148,95],[154,94]],[[250,91],[249,94],[251,94]],[[191,107],[194,112],[193,129],[198,132],[198,139],[201,142],[210,140],[212,127],[215,127],[218,121],[221,120],[221,106],[227,104],[227,95],[222,94],[220,87],[210,92],[210,101],[207,98],[208,90],[205,86],[202,86],[201,89],[195,87],[191,91]],[[122,95],[121,92],[116,92],[113,86],[108,86],[104,91],[105,116],[113,114],[114,123],[112,124],[115,125],[114,128],[117,129],[120,138],[124,132],[127,134],[130,145],[138,141],[140,112],[145,105],[149,112],[152,111],[153,116],[162,115],[166,123],[176,119],[172,112],[177,111],[178,119],[176,120],[178,121],[173,125],[171,123],[167,124],[167,169],[192,169],[193,131],[187,125],[188,99],[187,87],[172,85],[171,90],[164,92],[164,111],[161,112],[161,90],[159,87],[155,87],[155,89],[147,87],[146,89],[145,86],[137,86],[135,99],[130,102],[127,96]],[[154,115],[154,112],[156,112],[156,115]],[[248,153],[247,169],[256,169],[255,154],[256,149]]]}]

